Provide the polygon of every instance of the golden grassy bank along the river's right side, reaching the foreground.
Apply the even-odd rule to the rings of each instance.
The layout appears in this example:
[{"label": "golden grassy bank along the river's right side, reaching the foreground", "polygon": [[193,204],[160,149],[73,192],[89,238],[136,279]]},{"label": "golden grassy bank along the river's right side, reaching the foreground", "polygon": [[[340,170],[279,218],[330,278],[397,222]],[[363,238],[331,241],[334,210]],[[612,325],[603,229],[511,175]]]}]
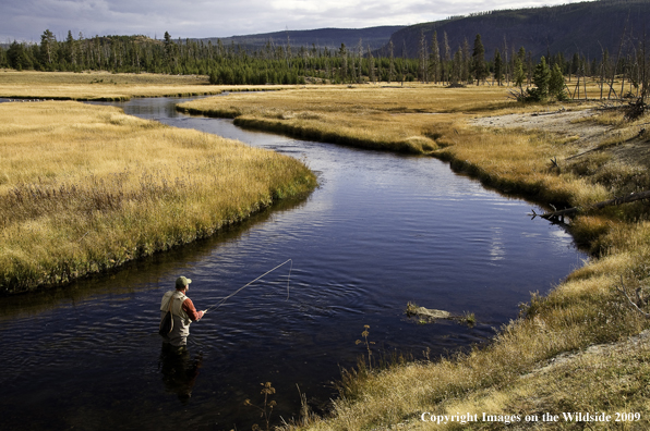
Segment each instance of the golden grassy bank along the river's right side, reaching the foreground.
[{"label": "golden grassy bank along the river's right side, reaching the foreground", "polygon": [[[595,95],[598,88],[591,86],[590,91]],[[583,101],[520,106],[507,100],[505,89],[494,87],[363,86],[231,95],[182,108],[296,136],[332,134],[336,138],[325,140],[348,145],[360,140],[366,147],[393,150],[408,146],[411,152],[447,160],[455,170],[504,193],[558,208],[587,208],[613,196],[650,189],[650,157],[645,149],[650,136],[642,131],[647,119],[627,123],[621,112],[593,111],[581,120],[566,121],[564,132],[551,132],[546,125],[495,128],[473,122],[506,113],[532,121],[533,112],[554,111],[562,120],[566,110],[597,106]],[[603,125],[603,133],[588,138],[575,131]],[[593,258],[546,297],[532,295],[521,317],[502,328],[486,347],[380,371],[362,367],[345,373],[329,417],[304,417],[289,428],[645,429],[650,415],[650,347],[648,337],[628,337],[650,325],[619,290],[625,286],[630,295],[638,290],[641,298],[650,294],[649,214],[643,202],[580,212],[568,229],[591,247]],[[648,310],[643,299],[638,303]],[[574,411],[603,411],[614,419],[585,423],[562,417]],[[518,416],[520,422],[449,419],[433,426],[421,420],[423,412],[448,418],[470,414],[482,419],[483,412]],[[562,419],[542,422],[545,412]],[[639,414],[641,420],[614,422],[616,412]],[[534,417],[539,421],[532,421]]]}]

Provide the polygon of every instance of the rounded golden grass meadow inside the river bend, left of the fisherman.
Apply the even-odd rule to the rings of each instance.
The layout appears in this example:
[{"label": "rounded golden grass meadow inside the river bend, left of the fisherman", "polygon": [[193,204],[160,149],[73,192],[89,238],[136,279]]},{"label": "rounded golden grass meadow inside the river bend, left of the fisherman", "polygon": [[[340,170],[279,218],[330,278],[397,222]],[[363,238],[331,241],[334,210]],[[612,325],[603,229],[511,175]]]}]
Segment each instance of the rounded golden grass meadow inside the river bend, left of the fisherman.
[{"label": "rounded golden grass meadow inside the river bend, left of the fisherman", "polygon": [[0,288],[64,283],[310,192],[292,158],[79,102],[0,103]]}]

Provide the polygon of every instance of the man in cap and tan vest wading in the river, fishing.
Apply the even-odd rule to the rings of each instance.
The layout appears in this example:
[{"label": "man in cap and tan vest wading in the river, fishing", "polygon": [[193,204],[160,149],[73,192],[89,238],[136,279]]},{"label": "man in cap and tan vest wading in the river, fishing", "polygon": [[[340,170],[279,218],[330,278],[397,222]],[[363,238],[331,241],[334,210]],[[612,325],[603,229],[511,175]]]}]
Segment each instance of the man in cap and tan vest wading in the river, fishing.
[{"label": "man in cap and tan vest wading in the river, fishing", "polygon": [[162,335],[165,343],[174,347],[184,348],[188,345],[190,324],[201,320],[205,311],[196,311],[192,299],[188,298],[188,290],[192,280],[179,276],[176,280],[176,291],[169,291],[162,296],[160,303],[160,323],[167,311],[171,311],[173,327],[169,334]]}]

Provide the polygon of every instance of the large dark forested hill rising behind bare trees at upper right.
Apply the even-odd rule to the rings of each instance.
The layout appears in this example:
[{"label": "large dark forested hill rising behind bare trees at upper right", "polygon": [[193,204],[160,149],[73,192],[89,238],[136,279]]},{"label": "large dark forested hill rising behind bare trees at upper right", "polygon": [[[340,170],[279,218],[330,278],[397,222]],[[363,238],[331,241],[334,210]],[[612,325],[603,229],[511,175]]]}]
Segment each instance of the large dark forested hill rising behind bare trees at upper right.
[{"label": "large dark forested hill rising behind bare trees at upper right", "polygon": [[[393,35],[392,41],[396,57],[418,58],[422,34],[431,47],[432,36],[437,32],[444,56],[445,33],[452,51],[461,47],[465,39],[471,47],[480,34],[488,58],[492,58],[497,48],[504,52],[507,46],[508,53],[525,47],[533,58],[546,56],[546,52],[562,52],[565,57],[578,52],[594,59],[600,58],[604,49],[615,56],[624,33],[626,41],[630,40],[630,34],[640,40],[645,29],[650,37],[650,1],[601,0],[455,16],[405,27]],[[384,56],[387,52],[388,46],[380,51]]]}]

